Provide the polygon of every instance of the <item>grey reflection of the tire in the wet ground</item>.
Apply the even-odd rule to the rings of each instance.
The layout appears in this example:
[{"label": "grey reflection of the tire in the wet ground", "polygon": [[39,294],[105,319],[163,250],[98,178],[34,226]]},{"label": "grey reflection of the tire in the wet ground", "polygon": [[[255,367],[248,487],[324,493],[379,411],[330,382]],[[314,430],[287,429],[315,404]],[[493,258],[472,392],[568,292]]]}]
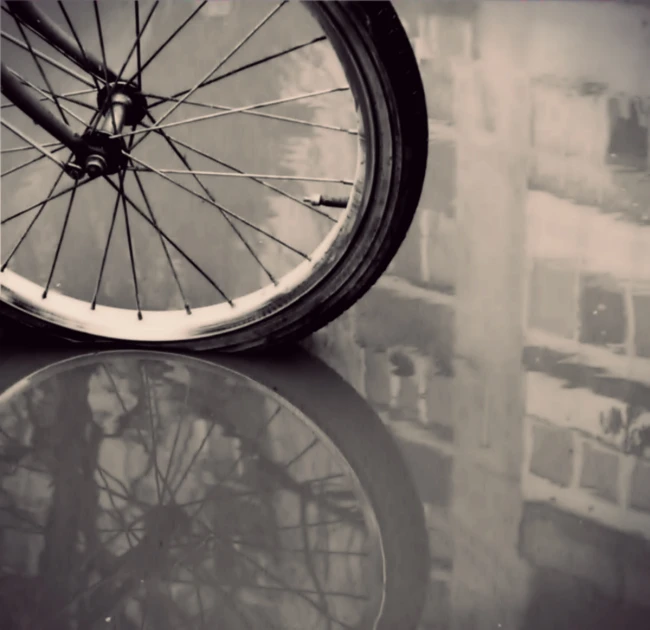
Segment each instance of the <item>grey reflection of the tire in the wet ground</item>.
[{"label": "grey reflection of the tire in the wet ground", "polygon": [[[0,358],[0,394],[38,370],[93,355],[70,350],[7,353]],[[263,360],[206,354],[195,358],[271,389],[322,430],[349,462],[374,510],[383,541],[386,597],[376,630],[415,630],[429,572],[424,511],[399,447],[370,405],[338,374],[301,349]]]}]

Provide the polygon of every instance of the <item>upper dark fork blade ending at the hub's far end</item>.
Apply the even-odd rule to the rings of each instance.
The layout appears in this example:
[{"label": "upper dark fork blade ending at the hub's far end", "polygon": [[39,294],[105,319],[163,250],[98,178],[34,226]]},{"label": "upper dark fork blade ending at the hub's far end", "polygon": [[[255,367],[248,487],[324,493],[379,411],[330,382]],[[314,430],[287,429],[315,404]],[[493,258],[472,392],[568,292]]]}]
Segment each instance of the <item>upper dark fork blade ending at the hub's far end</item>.
[{"label": "upper dark fork blade ending at the hub's far end", "polygon": [[50,45],[69,57],[86,72],[107,83],[117,81],[117,75],[110,68],[106,67],[92,52],[81,50],[72,37],[63,31],[56,22],[53,22],[46,13],[36,7],[35,2],[10,0],[7,2],[7,6],[17,18],[42,35]]}]

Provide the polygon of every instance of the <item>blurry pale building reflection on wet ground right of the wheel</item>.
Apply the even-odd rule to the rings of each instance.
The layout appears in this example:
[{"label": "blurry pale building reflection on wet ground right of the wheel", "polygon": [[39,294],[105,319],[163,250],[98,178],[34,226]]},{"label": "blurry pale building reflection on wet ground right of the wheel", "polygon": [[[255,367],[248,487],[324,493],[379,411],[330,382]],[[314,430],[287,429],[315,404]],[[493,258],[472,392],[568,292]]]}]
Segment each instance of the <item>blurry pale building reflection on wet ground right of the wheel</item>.
[{"label": "blurry pale building reflection on wet ground right of the wheel", "polygon": [[425,189],[388,273],[309,345],[416,471],[423,628],[645,627],[650,8],[396,5]]}]

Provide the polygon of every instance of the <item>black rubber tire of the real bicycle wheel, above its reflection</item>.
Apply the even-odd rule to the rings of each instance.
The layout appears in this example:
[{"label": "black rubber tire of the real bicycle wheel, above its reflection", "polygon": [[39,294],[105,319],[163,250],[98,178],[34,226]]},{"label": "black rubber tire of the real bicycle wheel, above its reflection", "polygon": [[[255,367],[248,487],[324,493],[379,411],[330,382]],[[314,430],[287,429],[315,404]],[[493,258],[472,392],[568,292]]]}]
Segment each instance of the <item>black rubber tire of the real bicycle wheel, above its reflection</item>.
[{"label": "black rubber tire of the real bicycle wheel, above its reflection", "polygon": [[[311,4],[311,3],[310,3]],[[154,343],[130,343],[152,349],[219,349],[238,352],[301,339],[322,328],[357,302],[394,258],[411,225],[425,176],[428,154],[426,100],[417,61],[390,2],[319,2],[361,42],[373,97],[386,105],[391,137],[379,138],[375,151],[384,201],[372,203],[363,224],[336,267],[310,292],[273,314],[210,337]],[[371,67],[368,67],[370,66]],[[385,143],[386,146],[383,146]],[[112,340],[71,331],[17,310],[0,300],[0,315],[19,319],[69,341],[113,345]]]}]

